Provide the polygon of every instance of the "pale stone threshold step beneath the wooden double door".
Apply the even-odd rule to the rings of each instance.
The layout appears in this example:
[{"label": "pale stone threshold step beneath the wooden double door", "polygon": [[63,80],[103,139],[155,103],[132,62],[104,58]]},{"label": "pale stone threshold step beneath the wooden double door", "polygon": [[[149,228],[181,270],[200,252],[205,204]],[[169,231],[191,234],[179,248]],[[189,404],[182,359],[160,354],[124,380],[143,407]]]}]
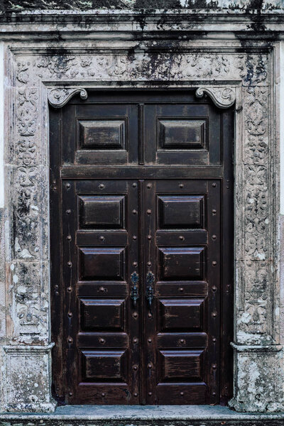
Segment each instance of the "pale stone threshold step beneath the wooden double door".
[{"label": "pale stone threshold step beneath the wooden double door", "polygon": [[[56,420],[56,421],[55,421]],[[206,425],[262,425],[266,420],[266,425],[283,425],[284,413],[236,413],[228,407],[221,405],[65,405],[56,408],[54,413],[1,413],[0,425],[19,424],[37,425],[68,424],[72,421],[73,425],[80,425],[89,421],[111,422],[111,425],[125,425],[131,422],[131,425],[138,425],[147,422],[153,425],[153,422],[174,422],[175,424],[197,424],[202,422]],[[278,420],[278,421],[277,421]],[[241,423],[240,423],[241,421]],[[272,422],[271,422],[272,421]],[[93,426],[93,425],[92,425]]]}]

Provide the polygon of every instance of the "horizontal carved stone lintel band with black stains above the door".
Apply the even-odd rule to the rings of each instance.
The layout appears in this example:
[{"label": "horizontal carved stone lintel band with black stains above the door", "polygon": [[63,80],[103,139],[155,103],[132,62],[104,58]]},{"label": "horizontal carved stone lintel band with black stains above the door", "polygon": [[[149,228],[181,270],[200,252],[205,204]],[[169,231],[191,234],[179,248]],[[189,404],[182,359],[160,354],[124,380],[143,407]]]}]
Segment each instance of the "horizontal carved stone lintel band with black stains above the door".
[{"label": "horizontal carved stone lintel band with black stains above the door", "polygon": [[16,84],[40,80],[238,80],[246,86],[268,84],[268,55],[218,53],[137,53],[49,55],[26,60],[18,55]]}]

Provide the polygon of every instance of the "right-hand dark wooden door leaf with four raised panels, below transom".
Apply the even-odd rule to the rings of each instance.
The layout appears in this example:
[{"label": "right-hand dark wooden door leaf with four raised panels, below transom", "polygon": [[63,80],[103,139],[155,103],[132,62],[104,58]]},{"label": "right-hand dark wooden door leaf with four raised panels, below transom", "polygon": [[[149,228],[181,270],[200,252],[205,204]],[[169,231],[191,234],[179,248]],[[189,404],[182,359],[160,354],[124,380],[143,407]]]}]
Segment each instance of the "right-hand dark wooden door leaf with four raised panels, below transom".
[{"label": "right-hand dark wooden door leaf with four raised panels, below transom", "polygon": [[[218,386],[219,381],[216,373],[219,370],[219,345],[213,347],[207,338],[200,346],[196,346],[195,342],[187,340],[187,333],[191,338],[195,332],[206,336],[216,335],[220,327],[217,315],[219,297],[215,296],[221,290],[220,187],[211,180],[182,180],[182,184],[177,180],[151,180],[146,181],[146,188],[145,209],[151,210],[151,215],[146,219],[146,258],[156,259],[151,266],[146,267],[146,274],[151,271],[156,282],[153,284],[156,295],[153,309],[148,305],[151,317],[146,315],[146,329],[151,329],[153,337],[146,354],[147,402],[167,403],[166,395],[170,395],[171,404],[179,404],[180,401],[190,404],[192,395],[196,394],[200,398],[199,403],[215,403],[216,393],[211,390]],[[165,204],[161,205],[161,200]],[[167,231],[160,231],[161,224],[165,223],[164,211],[172,200],[175,212],[170,227]],[[192,220],[192,204],[188,200],[195,200],[195,206],[198,203],[198,209],[195,207],[197,221]],[[213,209],[216,209],[214,219]],[[160,245],[161,239],[163,246]],[[159,288],[158,294],[155,293],[155,285]],[[159,295],[161,288],[163,297]],[[211,315],[207,314],[208,311]],[[163,339],[158,339],[162,335]],[[185,363],[189,368],[193,359],[197,363],[195,351],[200,353],[196,367],[199,373],[196,377],[192,376],[191,380],[191,376],[182,373],[180,376],[178,373],[170,376],[171,368],[173,371],[176,368],[182,371]],[[212,364],[214,374],[209,373]],[[168,377],[167,380],[162,379],[165,377]]]}]

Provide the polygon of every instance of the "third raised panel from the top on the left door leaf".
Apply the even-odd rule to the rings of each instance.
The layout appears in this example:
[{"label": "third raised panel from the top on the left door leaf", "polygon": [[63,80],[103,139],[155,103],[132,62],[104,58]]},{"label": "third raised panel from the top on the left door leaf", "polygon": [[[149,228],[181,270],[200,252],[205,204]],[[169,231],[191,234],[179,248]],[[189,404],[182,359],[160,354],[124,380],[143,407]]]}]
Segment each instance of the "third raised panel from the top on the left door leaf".
[{"label": "third raised panel from the top on the left door leaf", "polygon": [[80,302],[82,331],[123,331],[124,300],[81,299]]}]

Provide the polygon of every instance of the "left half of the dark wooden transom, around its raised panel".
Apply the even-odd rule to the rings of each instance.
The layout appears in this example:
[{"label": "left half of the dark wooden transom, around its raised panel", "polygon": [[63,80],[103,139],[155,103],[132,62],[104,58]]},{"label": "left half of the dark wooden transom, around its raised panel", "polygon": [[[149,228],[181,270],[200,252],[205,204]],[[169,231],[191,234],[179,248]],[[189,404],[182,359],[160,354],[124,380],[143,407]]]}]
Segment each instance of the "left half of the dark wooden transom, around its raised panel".
[{"label": "left half of the dark wooden transom, around its raised panel", "polygon": [[70,104],[62,123],[62,164],[128,165],[135,161],[137,111],[131,104],[99,104],[91,109]]}]

